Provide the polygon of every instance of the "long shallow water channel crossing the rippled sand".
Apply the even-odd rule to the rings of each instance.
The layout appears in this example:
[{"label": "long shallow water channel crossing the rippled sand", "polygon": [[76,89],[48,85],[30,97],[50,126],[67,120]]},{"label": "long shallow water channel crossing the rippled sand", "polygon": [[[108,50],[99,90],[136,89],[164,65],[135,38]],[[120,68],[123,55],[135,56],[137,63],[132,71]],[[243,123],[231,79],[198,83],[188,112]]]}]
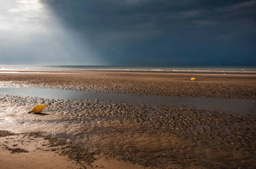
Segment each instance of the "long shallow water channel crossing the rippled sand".
[{"label": "long shallow water channel crossing the rippled sand", "polygon": [[151,106],[183,105],[206,110],[234,112],[237,114],[256,114],[256,100],[254,99],[225,99],[225,98],[190,98],[176,96],[134,95],[123,93],[97,93],[91,91],[73,91],[65,89],[45,89],[31,87],[5,87],[0,93],[21,95],[24,97],[42,97],[47,99],[105,99],[128,104],[149,104]]}]

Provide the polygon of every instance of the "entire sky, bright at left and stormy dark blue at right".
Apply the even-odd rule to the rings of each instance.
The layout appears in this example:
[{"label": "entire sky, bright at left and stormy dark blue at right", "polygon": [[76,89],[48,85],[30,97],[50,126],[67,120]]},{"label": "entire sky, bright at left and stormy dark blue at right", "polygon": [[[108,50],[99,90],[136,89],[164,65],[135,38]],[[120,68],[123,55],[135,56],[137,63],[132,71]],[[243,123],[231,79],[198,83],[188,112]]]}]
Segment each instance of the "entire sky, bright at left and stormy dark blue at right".
[{"label": "entire sky, bright at left and stormy dark blue at right", "polygon": [[256,0],[0,3],[0,65],[256,65]]}]

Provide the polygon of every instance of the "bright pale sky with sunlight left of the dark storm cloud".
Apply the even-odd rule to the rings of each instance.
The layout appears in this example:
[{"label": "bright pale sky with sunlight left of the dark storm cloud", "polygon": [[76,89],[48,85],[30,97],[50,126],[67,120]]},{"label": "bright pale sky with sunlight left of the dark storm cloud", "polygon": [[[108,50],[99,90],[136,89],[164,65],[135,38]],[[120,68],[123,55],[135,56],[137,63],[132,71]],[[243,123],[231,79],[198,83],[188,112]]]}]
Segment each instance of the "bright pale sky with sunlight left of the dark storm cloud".
[{"label": "bright pale sky with sunlight left of the dark storm cloud", "polygon": [[0,63],[79,64],[95,59],[86,43],[61,22],[39,0],[1,0]]}]

